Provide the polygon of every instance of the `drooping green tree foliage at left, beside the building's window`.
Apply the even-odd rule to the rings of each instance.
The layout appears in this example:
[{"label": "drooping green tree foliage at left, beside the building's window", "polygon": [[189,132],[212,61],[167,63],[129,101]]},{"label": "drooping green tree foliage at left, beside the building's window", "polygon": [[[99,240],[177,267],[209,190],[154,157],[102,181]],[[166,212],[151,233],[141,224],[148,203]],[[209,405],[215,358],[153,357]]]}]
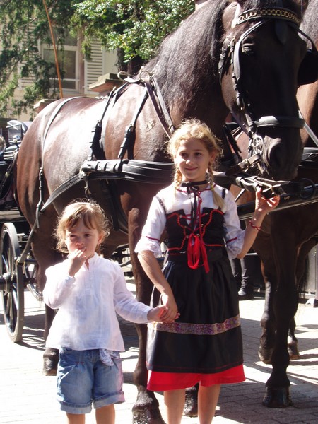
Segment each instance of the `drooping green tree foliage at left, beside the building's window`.
[{"label": "drooping green tree foliage at left, beside the building's window", "polygon": [[[58,23],[54,29],[59,47],[77,2],[47,0],[50,18]],[[1,0],[0,29],[0,116],[7,116],[8,108],[20,114],[40,98],[48,95],[54,98],[57,93],[50,92],[49,87],[52,64],[42,60],[39,52],[43,42],[52,44],[43,1]],[[19,78],[30,78],[32,83],[25,89],[23,100],[17,102],[13,94]]]}]

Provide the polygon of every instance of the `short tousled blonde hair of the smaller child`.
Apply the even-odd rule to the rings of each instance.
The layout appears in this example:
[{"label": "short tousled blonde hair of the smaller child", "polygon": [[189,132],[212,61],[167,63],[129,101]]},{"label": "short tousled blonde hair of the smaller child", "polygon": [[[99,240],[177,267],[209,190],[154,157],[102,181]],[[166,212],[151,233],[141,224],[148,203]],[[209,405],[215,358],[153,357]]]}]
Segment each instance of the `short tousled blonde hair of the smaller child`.
[{"label": "short tousled blonde hair of the smaller child", "polygon": [[[80,220],[87,228],[98,230],[102,234],[102,241],[110,234],[108,220],[102,208],[95,201],[73,201],[64,208],[57,220],[54,236],[57,238],[57,250],[69,253],[66,247],[66,230],[73,228]],[[100,254],[100,246],[96,246]]]}]

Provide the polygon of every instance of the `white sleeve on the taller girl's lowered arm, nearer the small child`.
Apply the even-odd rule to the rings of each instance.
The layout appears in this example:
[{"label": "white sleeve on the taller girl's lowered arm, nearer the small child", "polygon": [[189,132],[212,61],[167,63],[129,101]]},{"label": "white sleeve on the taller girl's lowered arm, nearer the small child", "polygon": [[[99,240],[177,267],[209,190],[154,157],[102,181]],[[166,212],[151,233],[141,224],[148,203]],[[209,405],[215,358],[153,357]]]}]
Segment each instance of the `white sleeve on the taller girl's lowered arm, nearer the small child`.
[{"label": "white sleeve on the taller girl's lowered arm, nearer the small child", "polygon": [[160,237],[165,230],[165,210],[160,204],[157,196],[153,198],[148,211],[146,223],[141,232],[141,238],[136,244],[135,252],[139,253],[143,250],[150,250],[155,254],[155,257],[162,255],[160,249]]}]

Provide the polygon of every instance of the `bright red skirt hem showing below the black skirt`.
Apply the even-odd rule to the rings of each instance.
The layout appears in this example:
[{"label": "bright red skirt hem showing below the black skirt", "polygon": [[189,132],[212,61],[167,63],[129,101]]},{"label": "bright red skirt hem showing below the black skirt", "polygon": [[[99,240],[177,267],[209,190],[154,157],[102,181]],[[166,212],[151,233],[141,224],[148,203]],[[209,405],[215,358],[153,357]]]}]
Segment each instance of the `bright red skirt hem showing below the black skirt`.
[{"label": "bright red skirt hem showing below the black skirt", "polygon": [[244,381],[243,365],[213,374],[149,371],[147,389],[151,391],[179,390],[192,387],[196,383],[207,387],[214,384],[232,384]]}]

